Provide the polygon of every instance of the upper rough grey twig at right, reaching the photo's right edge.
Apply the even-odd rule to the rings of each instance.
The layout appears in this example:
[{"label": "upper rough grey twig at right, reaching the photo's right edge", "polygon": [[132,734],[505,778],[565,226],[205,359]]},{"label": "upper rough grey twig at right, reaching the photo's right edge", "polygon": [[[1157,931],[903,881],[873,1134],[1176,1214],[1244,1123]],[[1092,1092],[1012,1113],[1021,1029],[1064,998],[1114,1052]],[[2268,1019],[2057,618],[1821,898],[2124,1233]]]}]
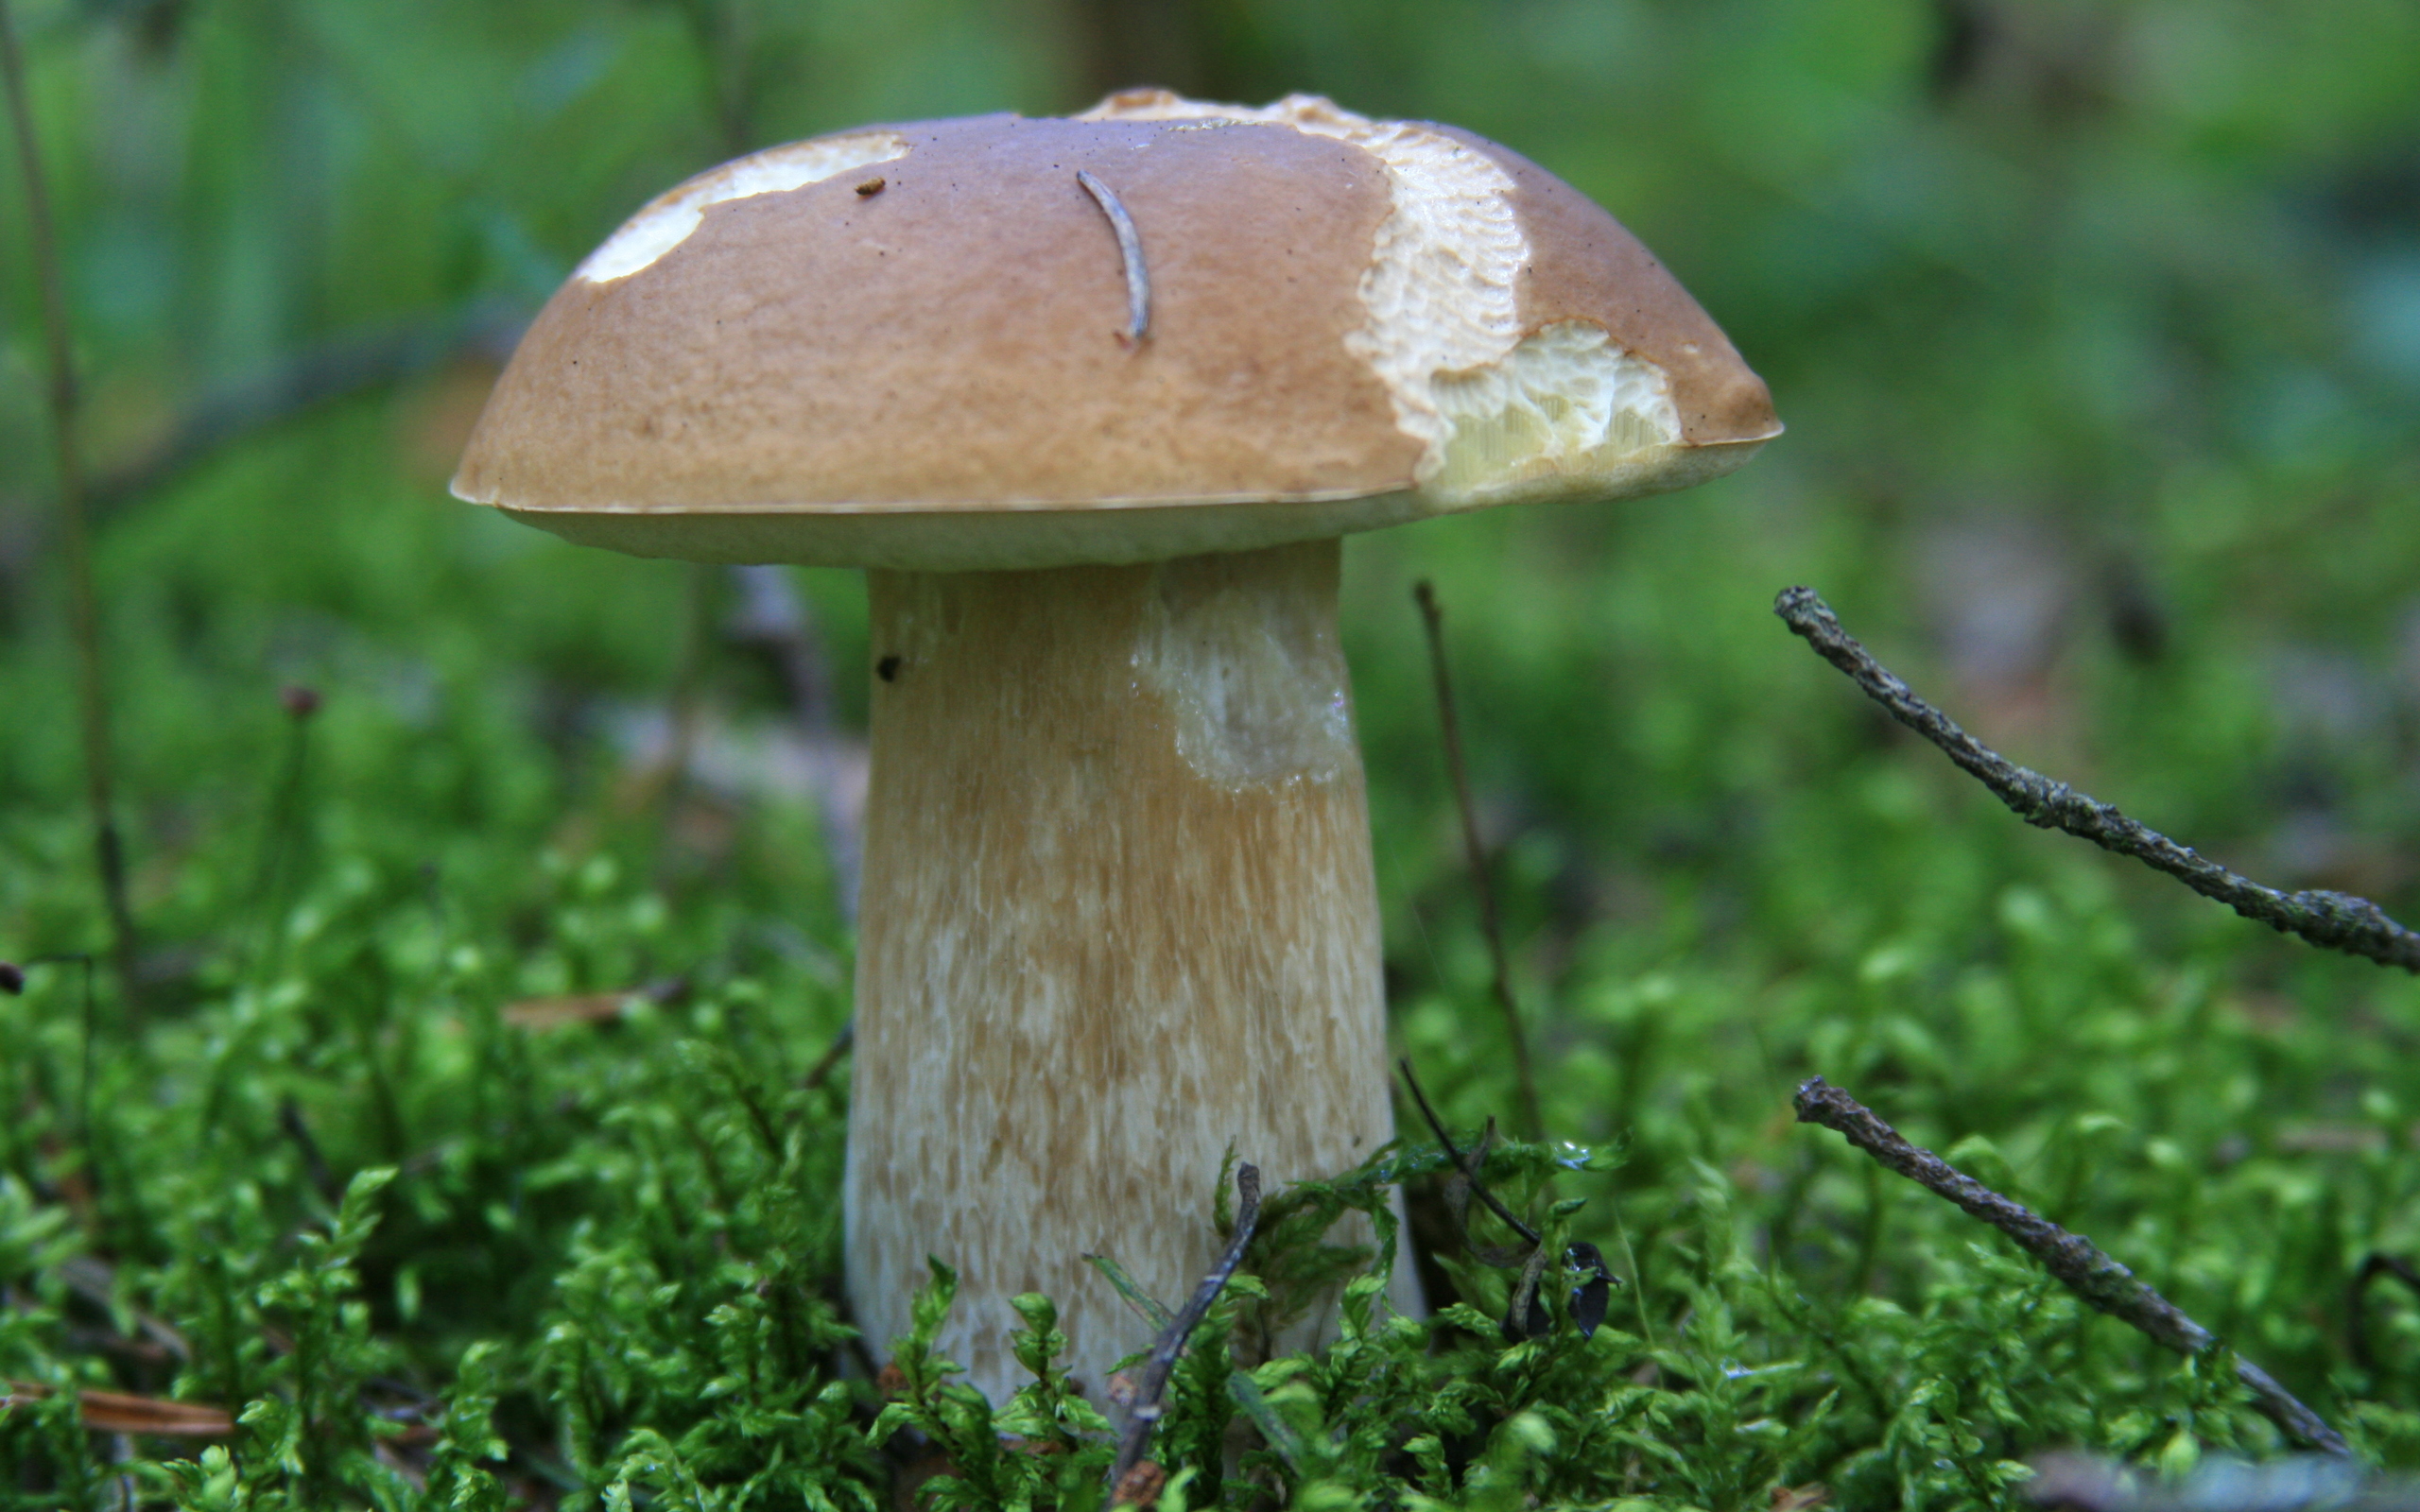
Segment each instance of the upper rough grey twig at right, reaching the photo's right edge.
[{"label": "upper rough grey twig at right, reaching the photo's right edge", "polygon": [[1839,627],[1832,605],[1813,588],[1784,588],[1774,600],[1774,614],[1805,639],[1827,663],[1846,673],[1868,699],[1890,711],[1892,719],[1917,731],[1958,762],[1970,777],[1992,789],[2016,818],[2042,830],[2064,830],[2079,839],[2091,839],[2101,849],[2134,856],[2154,871],[2166,871],[2202,898],[2212,898],[2280,934],[2299,934],[2314,946],[2362,956],[2379,965],[2401,965],[2420,973],[2420,934],[2396,924],[2376,902],[2350,893],[2311,888],[2304,893],[2280,893],[2226,871],[2193,847],[2176,844],[2166,835],[2149,830],[2118,806],[2088,798],[2064,781],[2052,781],[2040,772],[1989,750],[1975,735],[1919,699],[1883,663],[1873,660],[1856,639]]}]

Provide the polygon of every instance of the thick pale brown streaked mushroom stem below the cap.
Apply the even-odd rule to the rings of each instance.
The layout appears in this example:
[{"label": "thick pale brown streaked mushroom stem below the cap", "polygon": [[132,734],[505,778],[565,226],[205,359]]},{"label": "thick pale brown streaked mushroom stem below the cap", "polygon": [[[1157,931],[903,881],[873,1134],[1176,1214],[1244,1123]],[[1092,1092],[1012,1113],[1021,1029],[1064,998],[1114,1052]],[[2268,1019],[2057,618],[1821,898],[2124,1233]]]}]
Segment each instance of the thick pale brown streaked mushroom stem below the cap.
[{"label": "thick pale brown streaked mushroom stem below the cap", "polygon": [[1336,564],[871,573],[847,1277],[876,1355],[929,1253],[973,1386],[1024,1384],[1007,1299],[1048,1292],[1099,1398],[1150,1326],[1084,1253],[1186,1297],[1229,1147],[1283,1185],[1394,1135]]}]

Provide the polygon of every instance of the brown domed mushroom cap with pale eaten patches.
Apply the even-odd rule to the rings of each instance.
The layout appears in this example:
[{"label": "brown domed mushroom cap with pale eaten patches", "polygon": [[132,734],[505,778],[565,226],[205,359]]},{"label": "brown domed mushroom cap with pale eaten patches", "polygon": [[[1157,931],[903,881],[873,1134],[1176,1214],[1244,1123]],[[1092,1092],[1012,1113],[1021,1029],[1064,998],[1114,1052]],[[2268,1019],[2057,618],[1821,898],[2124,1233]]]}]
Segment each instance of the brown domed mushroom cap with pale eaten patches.
[{"label": "brown domed mushroom cap with pale eaten patches", "polygon": [[455,494],[641,556],[1150,561],[1730,472],[1764,382],[1452,126],[1166,92],[767,148],[530,327]]}]

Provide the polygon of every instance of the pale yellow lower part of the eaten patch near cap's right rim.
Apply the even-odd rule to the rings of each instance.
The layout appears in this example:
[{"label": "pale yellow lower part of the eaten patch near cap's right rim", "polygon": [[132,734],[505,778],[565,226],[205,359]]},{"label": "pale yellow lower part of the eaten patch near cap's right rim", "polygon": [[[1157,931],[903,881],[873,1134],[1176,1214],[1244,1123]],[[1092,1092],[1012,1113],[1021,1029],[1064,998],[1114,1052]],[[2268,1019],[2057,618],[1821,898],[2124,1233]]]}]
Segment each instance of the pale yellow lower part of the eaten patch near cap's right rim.
[{"label": "pale yellow lower part of the eaten patch near cap's right rim", "polygon": [[1679,440],[1670,375],[1578,319],[1539,329],[1486,368],[1440,373],[1433,392],[1452,431],[1423,494],[1452,503],[1595,474]]}]

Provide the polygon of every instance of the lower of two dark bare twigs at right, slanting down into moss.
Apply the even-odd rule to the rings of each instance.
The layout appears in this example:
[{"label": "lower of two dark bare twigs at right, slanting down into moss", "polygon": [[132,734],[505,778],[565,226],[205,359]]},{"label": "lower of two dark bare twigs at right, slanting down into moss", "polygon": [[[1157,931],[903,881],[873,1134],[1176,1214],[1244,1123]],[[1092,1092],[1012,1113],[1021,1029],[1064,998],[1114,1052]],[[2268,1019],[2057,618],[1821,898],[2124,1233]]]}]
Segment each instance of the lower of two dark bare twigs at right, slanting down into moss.
[{"label": "lower of two dark bare twigs at right, slanting down into moss", "polygon": [[[1798,1086],[1793,1101],[1798,1123],[1820,1123],[1842,1135],[1876,1161],[1914,1181],[1938,1198],[1948,1198],[2009,1239],[2021,1251],[2042,1263],[2076,1297],[2113,1318],[2120,1318],[2154,1343],[2178,1355],[2200,1355],[2217,1340],[2214,1333],[2188,1318],[2173,1302],[2134,1280],[2134,1272],[2093,1248],[2081,1234],[2069,1234],[2021,1202],[2001,1198],[1984,1183],[1965,1176],[1929,1149],[1909,1144],[1895,1127],[1873,1115],[1871,1108],[1832,1086],[1822,1077],[1810,1077]],[[2350,1456],[2352,1449],[2328,1422],[2301,1406],[2284,1386],[2251,1360],[2236,1357],[2236,1379],[2253,1393],[2253,1406],[2282,1427],[2289,1437],[2323,1454]]]}]

